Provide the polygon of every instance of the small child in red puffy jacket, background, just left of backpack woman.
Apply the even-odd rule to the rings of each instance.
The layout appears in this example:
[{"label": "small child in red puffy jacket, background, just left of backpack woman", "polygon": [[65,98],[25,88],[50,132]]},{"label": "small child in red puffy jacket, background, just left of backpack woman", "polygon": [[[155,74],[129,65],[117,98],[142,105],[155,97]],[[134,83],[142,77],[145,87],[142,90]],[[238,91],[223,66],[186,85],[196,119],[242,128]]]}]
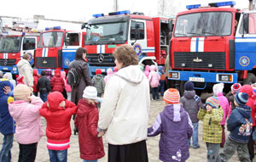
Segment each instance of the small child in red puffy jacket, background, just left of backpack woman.
[{"label": "small child in red puffy jacket, background, just left of backpack woman", "polygon": [[61,77],[61,70],[56,69],[55,75],[50,80],[50,86],[52,92],[63,92],[63,89],[65,88],[65,82],[63,81],[63,78]]}]

